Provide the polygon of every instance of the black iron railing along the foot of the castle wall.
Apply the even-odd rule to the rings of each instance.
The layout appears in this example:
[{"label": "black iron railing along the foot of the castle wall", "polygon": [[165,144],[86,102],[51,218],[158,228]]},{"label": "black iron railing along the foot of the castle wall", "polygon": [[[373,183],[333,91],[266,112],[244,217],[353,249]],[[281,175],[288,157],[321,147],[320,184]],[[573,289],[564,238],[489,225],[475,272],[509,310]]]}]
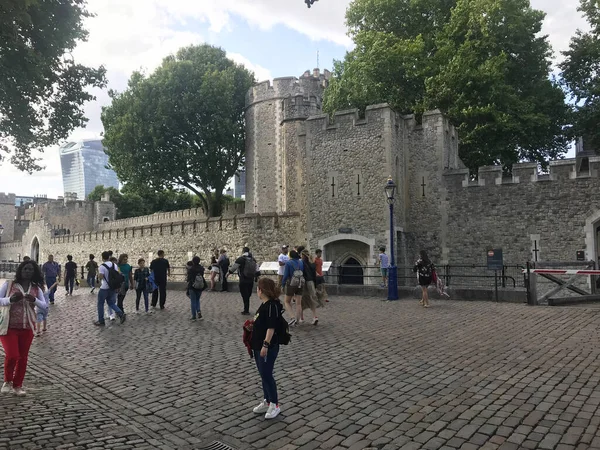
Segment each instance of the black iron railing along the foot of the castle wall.
[{"label": "black iron railing along the foot of the castle wall", "polygon": [[[502,270],[488,270],[485,265],[448,264],[436,266],[436,272],[448,287],[494,289],[496,283],[503,289],[525,288],[525,266],[507,264]],[[417,275],[413,266],[398,267],[398,286],[415,286]],[[377,266],[341,265],[331,266],[326,278],[329,284],[371,284],[382,282]]]}]

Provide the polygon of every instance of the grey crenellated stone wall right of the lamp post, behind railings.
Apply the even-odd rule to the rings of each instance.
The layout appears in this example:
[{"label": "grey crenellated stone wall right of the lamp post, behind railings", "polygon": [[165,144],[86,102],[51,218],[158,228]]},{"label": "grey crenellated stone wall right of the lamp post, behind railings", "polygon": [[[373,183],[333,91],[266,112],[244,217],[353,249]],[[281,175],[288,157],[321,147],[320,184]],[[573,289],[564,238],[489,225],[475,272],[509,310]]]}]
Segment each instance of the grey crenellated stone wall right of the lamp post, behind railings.
[{"label": "grey crenellated stone wall right of the lamp post, behind railings", "polygon": [[486,264],[486,250],[502,248],[506,262],[524,264],[535,260],[535,241],[539,261],[575,261],[585,250],[598,262],[600,157],[590,161],[588,173],[576,173],[574,159],[552,162],[549,174],[517,164],[508,179],[500,167],[481,168],[477,181],[466,170],[447,172],[448,261]]}]

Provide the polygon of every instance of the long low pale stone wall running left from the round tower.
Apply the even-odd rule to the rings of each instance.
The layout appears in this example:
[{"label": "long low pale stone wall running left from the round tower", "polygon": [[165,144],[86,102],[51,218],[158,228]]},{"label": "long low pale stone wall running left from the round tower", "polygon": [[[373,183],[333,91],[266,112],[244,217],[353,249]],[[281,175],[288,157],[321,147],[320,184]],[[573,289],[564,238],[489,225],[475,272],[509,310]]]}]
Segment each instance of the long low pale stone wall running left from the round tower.
[{"label": "long low pale stone wall running left from the round tower", "polygon": [[298,235],[299,219],[298,214],[248,214],[230,219],[183,220],[60,237],[50,237],[49,226],[36,221],[30,224],[21,243],[0,246],[0,259],[16,261],[18,253],[30,255],[32,242],[37,238],[41,261],[53,254],[58,261],[64,262],[66,255],[71,254],[81,264],[87,261],[90,253],[98,255],[104,250],[112,250],[115,254],[129,254],[130,261],[135,262],[162,249],[173,266],[183,266],[189,260],[189,252],[208,264],[215,248],[226,248],[230,256],[235,257],[241,254],[245,245],[251,248],[258,261],[272,261],[282,243],[296,243],[302,239]]}]

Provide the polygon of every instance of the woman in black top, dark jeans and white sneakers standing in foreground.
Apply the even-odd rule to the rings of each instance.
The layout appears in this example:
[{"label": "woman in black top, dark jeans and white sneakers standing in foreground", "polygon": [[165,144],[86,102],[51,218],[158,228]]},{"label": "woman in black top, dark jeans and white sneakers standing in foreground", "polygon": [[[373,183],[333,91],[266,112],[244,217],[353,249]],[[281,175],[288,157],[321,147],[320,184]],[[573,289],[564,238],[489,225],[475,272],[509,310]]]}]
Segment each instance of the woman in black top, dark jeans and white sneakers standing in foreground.
[{"label": "woman in black top, dark jeans and white sneakers standing in foreground", "polygon": [[273,377],[273,368],[279,353],[276,330],[279,328],[280,317],[283,313],[283,306],[279,301],[281,290],[273,280],[261,278],[258,280],[256,293],[262,303],[254,318],[252,352],[262,379],[264,400],[254,408],[254,412],[266,413],[265,419],[274,419],[281,411],[277,398],[277,385]]}]

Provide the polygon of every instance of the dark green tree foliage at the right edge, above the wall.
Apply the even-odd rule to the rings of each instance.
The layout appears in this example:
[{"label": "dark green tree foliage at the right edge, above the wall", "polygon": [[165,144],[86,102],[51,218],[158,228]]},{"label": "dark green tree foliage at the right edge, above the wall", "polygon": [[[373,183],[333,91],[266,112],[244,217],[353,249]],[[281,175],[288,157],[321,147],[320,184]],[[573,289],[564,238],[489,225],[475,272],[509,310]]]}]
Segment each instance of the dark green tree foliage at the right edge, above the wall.
[{"label": "dark green tree foliage at the right edge, above the wall", "polygon": [[577,30],[569,50],[563,53],[560,69],[576,104],[573,132],[600,152],[600,6],[596,1],[581,0],[579,11],[591,29],[587,33]]}]

